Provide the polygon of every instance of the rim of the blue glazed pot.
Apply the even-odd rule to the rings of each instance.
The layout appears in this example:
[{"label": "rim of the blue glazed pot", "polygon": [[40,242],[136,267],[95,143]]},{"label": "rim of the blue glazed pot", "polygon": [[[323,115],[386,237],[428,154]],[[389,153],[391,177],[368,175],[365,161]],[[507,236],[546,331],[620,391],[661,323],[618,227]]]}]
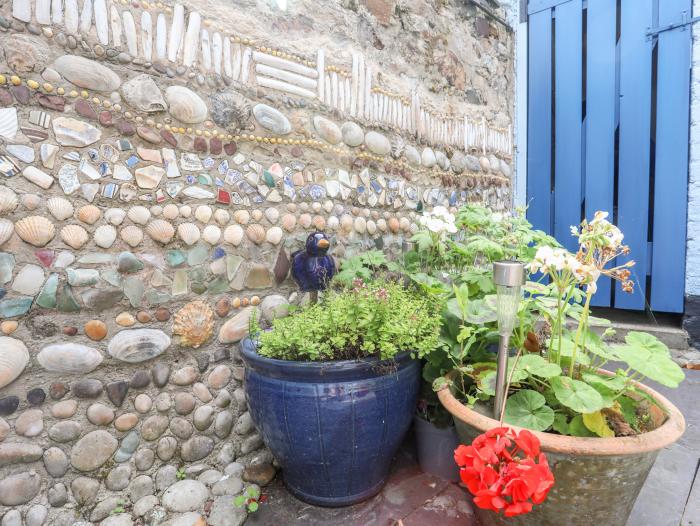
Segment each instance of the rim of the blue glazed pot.
[{"label": "rim of the blue glazed pot", "polygon": [[335,360],[327,362],[299,362],[260,356],[250,338],[241,342],[241,356],[246,366],[264,376],[309,382],[338,382],[360,380],[391,374],[407,365],[413,358],[404,351],[389,360]]}]

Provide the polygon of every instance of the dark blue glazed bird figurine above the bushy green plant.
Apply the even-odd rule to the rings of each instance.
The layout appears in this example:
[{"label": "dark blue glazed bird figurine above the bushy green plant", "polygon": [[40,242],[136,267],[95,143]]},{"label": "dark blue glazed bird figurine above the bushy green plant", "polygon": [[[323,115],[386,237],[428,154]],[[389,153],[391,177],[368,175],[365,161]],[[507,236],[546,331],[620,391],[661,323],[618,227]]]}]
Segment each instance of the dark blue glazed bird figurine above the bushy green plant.
[{"label": "dark blue glazed bird figurine above the bushy green plant", "polygon": [[303,292],[324,290],[335,275],[335,261],[327,254],[330,245],[326,234],[314,232],[304,250],[292,253],[292,277]]}]

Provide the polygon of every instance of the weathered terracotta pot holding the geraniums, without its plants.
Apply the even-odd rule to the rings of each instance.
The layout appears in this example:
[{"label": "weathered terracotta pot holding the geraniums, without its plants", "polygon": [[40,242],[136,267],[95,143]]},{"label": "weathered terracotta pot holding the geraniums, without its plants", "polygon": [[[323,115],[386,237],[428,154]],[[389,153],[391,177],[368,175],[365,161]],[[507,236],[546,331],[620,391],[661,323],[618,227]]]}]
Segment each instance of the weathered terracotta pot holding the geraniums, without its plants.
[{"label": "weathered terracotta pot holding the geraniums, without its plants", "polygon": [[[661,426],[642,435],[618,438],[534,431],[554,473],[554,487],[547,500],[527,515],[510,518],[476,508],[481,525],[625,526],[659,451],[685,431],[685,419],[671,402],[653,389],[641,384],[637,387],[651,395],[668,416]],[[438,397],[454,417],[462,444],[499,426],[497,420],[459,402],[449,388],[439,391]]]}]

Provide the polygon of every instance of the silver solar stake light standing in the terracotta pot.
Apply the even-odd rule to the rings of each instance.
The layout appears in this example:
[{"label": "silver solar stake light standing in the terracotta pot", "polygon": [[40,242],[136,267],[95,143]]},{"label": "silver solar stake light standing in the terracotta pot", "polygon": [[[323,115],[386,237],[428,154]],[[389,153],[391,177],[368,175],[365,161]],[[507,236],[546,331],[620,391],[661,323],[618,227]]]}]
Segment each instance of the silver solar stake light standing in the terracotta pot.
[{"label": "silver solar stake light standing in the terracotta pot", "polygon": [[525,266],[520,261],[497,261],[493,264],[498,317],[498,359],[496,368],[496,401],[493,413],[501,419],[508,389],[508,342],[518,314],[520,290],[525,284]]}]

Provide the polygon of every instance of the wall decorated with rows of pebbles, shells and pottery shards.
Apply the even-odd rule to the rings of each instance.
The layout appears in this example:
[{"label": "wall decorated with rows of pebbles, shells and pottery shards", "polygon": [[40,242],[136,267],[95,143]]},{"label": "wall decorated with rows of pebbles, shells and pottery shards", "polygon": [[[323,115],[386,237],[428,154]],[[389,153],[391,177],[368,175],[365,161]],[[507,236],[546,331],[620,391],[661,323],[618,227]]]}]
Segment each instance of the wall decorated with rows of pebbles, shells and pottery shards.
[{"label": "wall decorated with rows of pebbles, shells and pottery shards", "polygon": [[502,25],[284,3],[0,3],[3,526],[240,524],[274,467],[237,342],[303,300],[292,252],[510,203]]}]

